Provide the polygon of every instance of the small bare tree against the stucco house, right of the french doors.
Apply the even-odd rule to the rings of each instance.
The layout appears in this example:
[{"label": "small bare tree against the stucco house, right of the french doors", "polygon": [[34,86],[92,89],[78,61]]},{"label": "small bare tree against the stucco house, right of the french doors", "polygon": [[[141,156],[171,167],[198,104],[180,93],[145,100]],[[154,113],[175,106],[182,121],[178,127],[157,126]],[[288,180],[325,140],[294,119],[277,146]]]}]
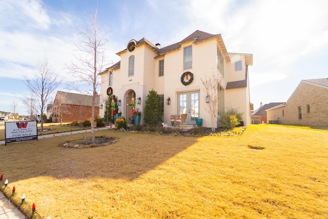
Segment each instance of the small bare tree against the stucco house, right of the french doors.
[{"label": "small bare tree against the stucco house, right of the french doors", "polygon": [[206,76],[204,79],[201,78],[200,80],[203,84],[205,93],[209,98],[209,103],[207,103],[205,110],[211,115],[211,128],[214,132],[216,128],[216,116],[218,112],[218,86],[222,81],[222,77],[215,75],[213,71],[212,77]]}]

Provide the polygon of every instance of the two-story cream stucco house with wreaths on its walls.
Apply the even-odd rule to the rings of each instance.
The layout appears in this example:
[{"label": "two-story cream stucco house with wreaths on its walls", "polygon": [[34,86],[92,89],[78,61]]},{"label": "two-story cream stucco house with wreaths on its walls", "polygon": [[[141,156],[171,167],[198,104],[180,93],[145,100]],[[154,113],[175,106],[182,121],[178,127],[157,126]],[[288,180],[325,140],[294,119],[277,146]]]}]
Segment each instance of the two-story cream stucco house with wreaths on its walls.
[{"label": "two-story cream stucco house with wreaths on its walls", "polygon": [[244,124],[251,122],[248,66],[253,65],[252,54],[228,53],[221,34],[195,31],[182,41],[161,48],[146,38],[134,39],[127,48],[116,53],[120,61],[101,72],[100,116],[104,116],[107,90],[120,99],[119,111],[131,121],[132,96],[141,111],[150,90],[161,98],[163,121],[170,123],[170,115],[187,113],[187,124],[194,125],[202,118],[202,126],[211,127],[205,110],[206,93],[201,78],[213,73],[222,78],[218,84],[218,114],[227,107],[243,113]]}]

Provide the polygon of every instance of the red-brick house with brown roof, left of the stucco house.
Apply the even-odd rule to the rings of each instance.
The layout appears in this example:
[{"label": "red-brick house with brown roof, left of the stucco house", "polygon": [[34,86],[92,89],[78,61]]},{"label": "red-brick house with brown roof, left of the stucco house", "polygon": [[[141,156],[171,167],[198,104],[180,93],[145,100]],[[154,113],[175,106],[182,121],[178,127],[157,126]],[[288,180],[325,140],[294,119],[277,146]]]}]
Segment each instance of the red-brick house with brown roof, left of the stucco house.
[{"label": "red-brick house with brown roof, left of the stucco house", "polygon": [[[95,115],[99,115],[99,95],[95,99]],[[85,120],[91,121],[92,114],[92,96],[78,93],[69,93],[57,91],[53,104],[53,119],[54,123],[59,123],[61,117],[63,123],[73,121],[82,122]]]}]

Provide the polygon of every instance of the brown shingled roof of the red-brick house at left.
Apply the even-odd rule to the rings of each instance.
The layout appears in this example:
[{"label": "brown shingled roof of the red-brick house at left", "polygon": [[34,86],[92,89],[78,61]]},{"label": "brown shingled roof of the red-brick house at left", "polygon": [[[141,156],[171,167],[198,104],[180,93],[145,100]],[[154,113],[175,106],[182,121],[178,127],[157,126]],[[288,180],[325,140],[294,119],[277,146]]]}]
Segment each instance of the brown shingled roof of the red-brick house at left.
[{"label": "brown shingled roof of the red-brick house at left", "polygon": [[[55,99],[59,99],[61,104],[78,105],[78,106],[92,106],[92,96],[91,95],[57,91]],[[95,99],[95,103],[99,103],[99,100],[100,100],[100,96],[97,95],[96,99]]]}]

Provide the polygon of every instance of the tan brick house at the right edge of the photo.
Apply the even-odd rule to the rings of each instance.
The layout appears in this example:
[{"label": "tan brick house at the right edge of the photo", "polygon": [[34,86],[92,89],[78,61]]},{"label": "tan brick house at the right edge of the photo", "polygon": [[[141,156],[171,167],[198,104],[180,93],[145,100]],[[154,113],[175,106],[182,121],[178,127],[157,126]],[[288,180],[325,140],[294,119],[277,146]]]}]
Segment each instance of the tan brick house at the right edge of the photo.
[{"label": "tan brick house at the right edge of the photo", "polygon": [[267,110],[282,125],[328,126],[328,78],[302,80],[285,104]]}]

